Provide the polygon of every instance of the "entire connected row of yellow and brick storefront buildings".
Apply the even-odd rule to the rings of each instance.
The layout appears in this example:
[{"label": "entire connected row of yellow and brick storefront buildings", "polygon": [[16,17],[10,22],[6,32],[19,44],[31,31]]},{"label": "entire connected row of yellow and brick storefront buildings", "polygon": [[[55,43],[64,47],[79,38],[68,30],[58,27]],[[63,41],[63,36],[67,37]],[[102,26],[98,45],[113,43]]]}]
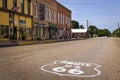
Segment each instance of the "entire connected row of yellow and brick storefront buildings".
[{"label": "entire connected row of yellow and brick storefront buildings", "polygon": [[0,0],[0,40],[70,38],[70,22],[56,0]]}]

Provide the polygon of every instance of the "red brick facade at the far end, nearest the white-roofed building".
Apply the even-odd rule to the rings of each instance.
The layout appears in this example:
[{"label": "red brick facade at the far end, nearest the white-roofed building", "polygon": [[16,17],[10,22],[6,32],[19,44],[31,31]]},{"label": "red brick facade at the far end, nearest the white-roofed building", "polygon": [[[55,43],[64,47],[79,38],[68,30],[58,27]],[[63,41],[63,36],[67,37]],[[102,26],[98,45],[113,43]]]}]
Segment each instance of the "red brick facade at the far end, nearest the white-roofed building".
[{"label": "red brick facade at the far end, nearest the white-roofed building", "polygon": [[60,38],[71,38],[71,11],[57,2],[57,28]]}]

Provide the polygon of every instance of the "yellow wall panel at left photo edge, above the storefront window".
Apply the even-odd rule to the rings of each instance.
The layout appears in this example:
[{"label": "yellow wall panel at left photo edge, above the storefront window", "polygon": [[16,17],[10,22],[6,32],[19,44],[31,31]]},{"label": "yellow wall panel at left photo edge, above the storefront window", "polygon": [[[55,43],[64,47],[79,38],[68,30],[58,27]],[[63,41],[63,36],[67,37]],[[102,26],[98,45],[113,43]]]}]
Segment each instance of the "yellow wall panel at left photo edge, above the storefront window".
[{"label": "yellow wall panel at left photo edge, above the storefront window", "polygon": [[8,25],[9,26],[9,14],[0,12],[0,25]]}]

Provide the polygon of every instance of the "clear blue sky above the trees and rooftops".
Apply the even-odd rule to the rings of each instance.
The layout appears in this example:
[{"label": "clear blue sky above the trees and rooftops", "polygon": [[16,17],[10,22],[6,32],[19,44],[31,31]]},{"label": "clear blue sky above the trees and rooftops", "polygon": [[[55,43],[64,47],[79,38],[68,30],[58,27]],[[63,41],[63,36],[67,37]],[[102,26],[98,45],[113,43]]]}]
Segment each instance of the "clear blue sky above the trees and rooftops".
[{"label": "clear blue sky above the trees and rooftops", "polygon": [[86,28],[95,25],[111,32],[118,28],[120,22],[120,0],[57,0],[72,11],[72,20]]}]

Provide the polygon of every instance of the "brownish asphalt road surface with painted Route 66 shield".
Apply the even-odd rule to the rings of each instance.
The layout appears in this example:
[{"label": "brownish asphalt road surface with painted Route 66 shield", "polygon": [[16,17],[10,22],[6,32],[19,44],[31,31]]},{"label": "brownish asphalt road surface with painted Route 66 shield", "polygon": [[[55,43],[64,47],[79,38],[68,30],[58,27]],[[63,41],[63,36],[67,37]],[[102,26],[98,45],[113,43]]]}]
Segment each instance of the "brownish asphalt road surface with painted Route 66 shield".
[{"label": "brownish asphalt road surface with painted Route 66 shield", "polygon": [[120,39],[0,48],[0,80],[120,80]]}]

